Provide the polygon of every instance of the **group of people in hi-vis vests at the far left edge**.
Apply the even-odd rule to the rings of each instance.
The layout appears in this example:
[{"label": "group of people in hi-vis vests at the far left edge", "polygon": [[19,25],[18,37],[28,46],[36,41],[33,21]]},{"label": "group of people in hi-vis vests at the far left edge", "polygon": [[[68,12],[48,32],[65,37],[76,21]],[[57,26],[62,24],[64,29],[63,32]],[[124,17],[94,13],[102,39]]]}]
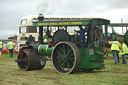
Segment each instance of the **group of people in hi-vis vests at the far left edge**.
[{"label": "group of people in hi-vis vests at the far left edge", "polygon": [[5,41],[0,40],[0,51],[2,55],[2,50],[8,51],[10,57],[13,57],[13,49],[16,46],[12,40],[9,40],[9,42],[6,44]]}]

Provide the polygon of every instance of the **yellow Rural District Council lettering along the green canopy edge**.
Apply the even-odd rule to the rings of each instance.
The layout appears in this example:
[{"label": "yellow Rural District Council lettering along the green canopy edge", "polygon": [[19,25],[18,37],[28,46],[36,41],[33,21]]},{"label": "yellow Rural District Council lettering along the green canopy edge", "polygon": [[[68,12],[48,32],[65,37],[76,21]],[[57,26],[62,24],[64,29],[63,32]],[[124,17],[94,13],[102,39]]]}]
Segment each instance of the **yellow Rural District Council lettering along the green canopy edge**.
[{"label": "yellow Rural District Council lettering along the green canopy edge", "polygon": [[42,22],[38,23],[39,26],[50,26],[50,25],[82,25],[82,21],[76,21],[76,22]]}]

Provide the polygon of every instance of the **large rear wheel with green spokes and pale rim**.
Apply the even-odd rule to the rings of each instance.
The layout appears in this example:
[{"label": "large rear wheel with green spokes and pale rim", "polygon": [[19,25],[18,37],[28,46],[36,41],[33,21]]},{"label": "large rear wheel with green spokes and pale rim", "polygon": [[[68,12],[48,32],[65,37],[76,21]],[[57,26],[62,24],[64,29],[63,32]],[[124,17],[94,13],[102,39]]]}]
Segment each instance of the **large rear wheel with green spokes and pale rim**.
[{"label": "large rear wheel with green spokes and pale rim", "polygon": [[59,42],[55,45],[51,56],[53,65],[59,73],[73,73],[80,66],[80,51],[72,42]]}]

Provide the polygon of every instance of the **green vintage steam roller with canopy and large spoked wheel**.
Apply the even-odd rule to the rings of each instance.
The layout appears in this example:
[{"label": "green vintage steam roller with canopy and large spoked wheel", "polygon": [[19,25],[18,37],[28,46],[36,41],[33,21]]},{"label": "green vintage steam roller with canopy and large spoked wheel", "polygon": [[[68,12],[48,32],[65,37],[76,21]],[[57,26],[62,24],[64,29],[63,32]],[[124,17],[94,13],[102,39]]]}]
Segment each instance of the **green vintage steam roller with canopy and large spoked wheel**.
[{"label": "green vintage steam roller with canopy and large spoked wheel", "polygon": [[[22,70],[40,70],[46,65],[48,58],[51,59],[55,70],[60,74],[70,74],[79,70],[93,71],[105,67],[103,51],[104,40],[102,25],[110,24],[106,19],[85,19],[85,20],[62,20],[43,21],[43,15],[39,15],[38,21],[33,26],[39,27],[38,41],[30,35],[26,38],[26,46],[20,48],[17,60],[18,67]],[[82,43],[80,34],[69,33],[69,28],[84,27],[86,42]],[[57,28],[49,37],[49,31],[43,34],[43,29],[49,27]]]}]

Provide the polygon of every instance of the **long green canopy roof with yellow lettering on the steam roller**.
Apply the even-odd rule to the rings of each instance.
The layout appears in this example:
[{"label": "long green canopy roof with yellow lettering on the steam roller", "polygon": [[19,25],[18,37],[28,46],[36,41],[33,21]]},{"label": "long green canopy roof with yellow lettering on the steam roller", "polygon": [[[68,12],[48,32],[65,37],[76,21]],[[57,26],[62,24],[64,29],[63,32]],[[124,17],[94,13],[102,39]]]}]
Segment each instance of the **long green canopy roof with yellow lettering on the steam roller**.
[{"label": "long green canopy roof with yellow lettering on the steam roller", "polygon": [[36,21],[34,26],[82,26],[82,25],[109,25],[110,21],[102,18],[83,20],[61,20],[61,21]]}]

